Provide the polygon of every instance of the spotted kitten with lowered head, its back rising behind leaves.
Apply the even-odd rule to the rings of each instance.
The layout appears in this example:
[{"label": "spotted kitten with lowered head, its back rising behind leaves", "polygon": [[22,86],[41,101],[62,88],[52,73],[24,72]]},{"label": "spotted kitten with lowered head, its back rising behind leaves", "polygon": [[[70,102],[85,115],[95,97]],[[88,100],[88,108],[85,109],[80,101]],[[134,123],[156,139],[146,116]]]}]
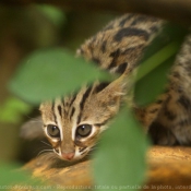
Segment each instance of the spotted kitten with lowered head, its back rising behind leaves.
[{"label": "spotted kitten with lowered head, its back rising behind leaves", "polygon": [[74,95],[40,105],[45,134],[61,159],[81,159],[95,146],[120,108],[127,76],[163,24],[155,17],[127,14],[81,46],[79,56],[121,75],[111,83],[95,82]]}]

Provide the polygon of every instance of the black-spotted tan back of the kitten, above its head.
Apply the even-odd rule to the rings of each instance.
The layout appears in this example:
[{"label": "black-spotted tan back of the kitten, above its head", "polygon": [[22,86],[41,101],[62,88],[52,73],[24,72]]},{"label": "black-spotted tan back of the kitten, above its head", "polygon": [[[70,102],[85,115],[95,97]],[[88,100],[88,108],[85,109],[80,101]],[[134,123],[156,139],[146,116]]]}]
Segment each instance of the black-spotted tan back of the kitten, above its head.
[{"label": "black-spotted tan back of the kitten, above its head", "polygon": [[136,67],[144,48],[160,32],[163,24],[162,20],[155,17],[127,14],[87,39],[77,55],[110,72],[129,73]]}]

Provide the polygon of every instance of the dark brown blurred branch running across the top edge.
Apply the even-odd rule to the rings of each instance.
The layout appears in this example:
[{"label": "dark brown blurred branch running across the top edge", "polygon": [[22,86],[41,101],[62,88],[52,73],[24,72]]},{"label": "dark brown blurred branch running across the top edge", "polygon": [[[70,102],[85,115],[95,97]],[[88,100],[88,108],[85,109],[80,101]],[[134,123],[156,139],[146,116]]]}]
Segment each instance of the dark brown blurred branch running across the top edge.
[{"label": "dark brown blurred branch running across the top edge", "polygon": [[64,10],[109,11],[118,13],[139,12],[191,24],[191,1],[188,0],[1,0],[0,3],[9,5],[49,3]]}]

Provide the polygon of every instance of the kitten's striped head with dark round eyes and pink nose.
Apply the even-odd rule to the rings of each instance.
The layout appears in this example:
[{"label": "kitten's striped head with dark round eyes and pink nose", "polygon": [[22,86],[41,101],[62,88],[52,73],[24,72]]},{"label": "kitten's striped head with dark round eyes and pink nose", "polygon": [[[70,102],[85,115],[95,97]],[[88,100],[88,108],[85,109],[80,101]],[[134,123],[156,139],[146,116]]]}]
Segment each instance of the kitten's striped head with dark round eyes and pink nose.
[{"label": "kitten's striped head with dark round eyes and pink nose", "polygon": [[108,121],[118,112],[124,85],[94,83],[73,96],[40,105],[44,132],[55,153],[63,160],[77,160],[96,144]]}]

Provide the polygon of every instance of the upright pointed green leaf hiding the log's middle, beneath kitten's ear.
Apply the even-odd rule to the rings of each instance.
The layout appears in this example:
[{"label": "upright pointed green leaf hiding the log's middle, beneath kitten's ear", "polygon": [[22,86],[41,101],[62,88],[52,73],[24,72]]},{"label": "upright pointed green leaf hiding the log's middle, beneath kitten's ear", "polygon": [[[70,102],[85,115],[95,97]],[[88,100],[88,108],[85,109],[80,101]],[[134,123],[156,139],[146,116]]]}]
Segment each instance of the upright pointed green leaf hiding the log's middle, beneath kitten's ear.
[{"label": "upright pointed green leaf hiding the log's middle, beneath kitten's ear", "polygon": [[147,146],[146,136],[132,112],[122,110],[105,132],[95,154],[95,184],[99,186],[95,190],[114,190],[112,187],[116,190],[134,190],[133,186],[141,186],[146,170]]}]

